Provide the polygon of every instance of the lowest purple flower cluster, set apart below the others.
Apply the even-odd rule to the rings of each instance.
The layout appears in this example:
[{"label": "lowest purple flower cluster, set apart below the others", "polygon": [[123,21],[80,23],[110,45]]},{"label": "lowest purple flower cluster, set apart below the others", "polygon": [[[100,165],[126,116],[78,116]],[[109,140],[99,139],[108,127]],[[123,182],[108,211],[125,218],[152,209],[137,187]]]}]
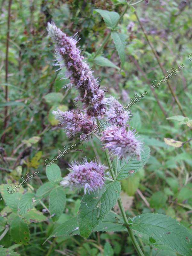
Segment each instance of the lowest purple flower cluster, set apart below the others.
[{"label": "lowest purple flower cluster, set apart below the others", "polygon": [[104,173],[107,169],[106,166],[98,164],[97,162],[87,162],[86,159],[82,163],[74,162],[69,165],[71,171],[61,181],[61,185],[70,185],[72,188],[83,188],[84,193],[95,191],[98,188],[102,188],[104,185]]}]

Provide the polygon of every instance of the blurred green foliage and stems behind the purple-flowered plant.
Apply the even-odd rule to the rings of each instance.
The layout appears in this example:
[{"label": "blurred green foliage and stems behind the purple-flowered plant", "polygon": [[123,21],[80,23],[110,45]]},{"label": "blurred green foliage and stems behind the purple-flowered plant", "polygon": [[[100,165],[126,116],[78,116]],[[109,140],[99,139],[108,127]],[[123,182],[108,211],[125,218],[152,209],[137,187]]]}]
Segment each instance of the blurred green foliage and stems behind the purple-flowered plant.
[{"label": "blurred green foliage and stems behind the purple-flowered plant", "polygon": [[[59,228],[64,221],[74,223],[75,228],[74,218],[80,207],[82,191],[65,188],[63,192],[63,189],[54,188],[47,196],[55,182],[68,173],[68,163],[73,159],[81,160],[84,156],[93,159],[95,155],[105,162],[100,145],[94,138],[84,144],[73,138],[68,140],[51,113],[58,106],[63,111],[74,108],[77,96],[76,90],[66,92],[62,89],[67,81],[61,80],[63,75],[52,66],[54,46],[46,32],[46,24],[51,20],[70,36],[78,32],[82,54],[95,70],[94,76],[100,77],[101,87],[107,87],[108,94],[127,105],[135,93],[141,95],[147,92],[140,102],[130,108],[133,113],[131,126],[150,147],[151,156],[140,172],[121,181],[127,216],[164,213],[179,220],[191,232],[191,142],[179,148],[164,142],[164,138],[182,142],[189,140],[191,125],[181,117],[166,119],[183,114],[166,83],[159,88],[151,86],[154,80],[163,79],[164,74],[146,41],[133,7],[128,9],[117,30],[112,32],[100,56],[93,59],[110,27],[98,9],[121,14],[125,8],[121,4],[123,1],[13,1],[8,81],[5,81],[8,2],[0,1],[0,135],[4,137],[0,148],[1,235],[6,231],[3,238],[0,235],[0,244],[4,247],[0,248],[2,255],[8,252],[10,255],[47,256],[136,255],[125,230],[104,233],[100,231],[102,228],[98,228],[99,232],[92,233],[87,240],[80,236],[70,237],[66,233],[44,243],[53,229]],[[149,3],[146,5],[145,2]],[[169,81],[185,115],[191,119],[192,62],[188,56],[191,53],[192,21],[189,1],[144,1],[135,5],[135,9],[164,69],[171,71],[172,67],[176,69],[184,65]],[[6,87],[9,102],[4,98]],[[5,106],[8,106],[6,127]],[[59,149],[74,143],[74,149],[55,161],[60,168],[51,173],[52,168],[56,168],[52,164],[45,172],[45,159],[51,161],[60,154]],[[13,194],[7,192],[9,185],[17,185],[27,173],[31,175],[36,170],[39,173],[30,182]],[[32,200],[34,194],[38,198],[35,202]],[[60,210],[58,216],[50,217],[55,212],[54,207],[58,207],[55,201],[60,202]],[[47,208],[50,212],[46,211]],[[19,211],[19,215],[14,209]],[[119,213],[117,205],[114,211]],[[142,237],[141,242],[140,234],[136,234],[146,255],[176,255],[148,236]],[[5,252],[5,248],[8,251]]]}]

